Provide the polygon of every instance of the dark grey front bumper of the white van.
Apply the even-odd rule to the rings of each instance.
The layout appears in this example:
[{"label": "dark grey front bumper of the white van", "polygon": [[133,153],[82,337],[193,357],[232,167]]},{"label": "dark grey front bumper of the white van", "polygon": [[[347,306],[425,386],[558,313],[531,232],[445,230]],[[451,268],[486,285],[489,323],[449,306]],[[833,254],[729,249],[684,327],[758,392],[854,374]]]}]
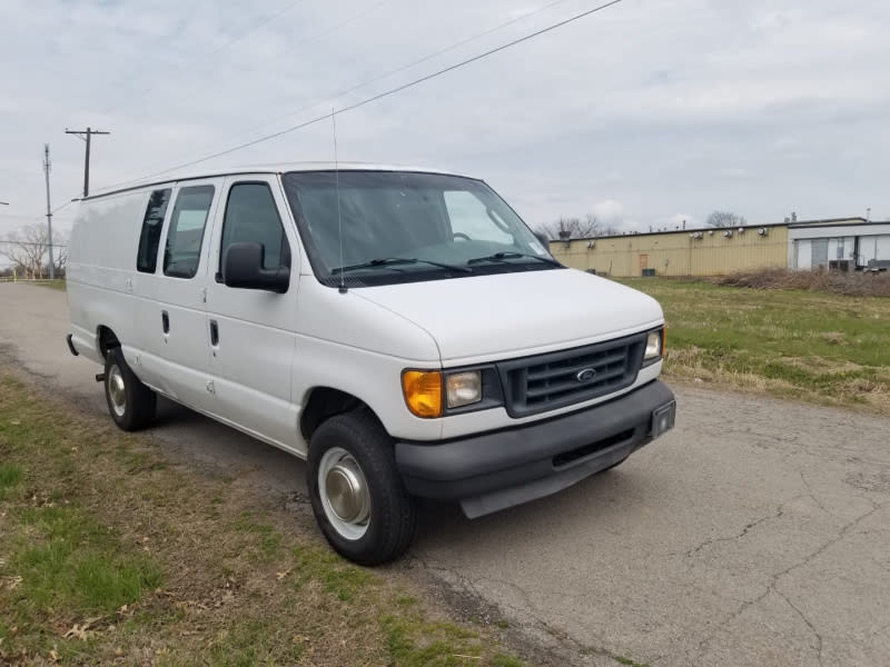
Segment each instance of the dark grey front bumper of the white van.
[{"label": "dark grey front bumper of the white van", "polygon": [[620,464],[673,427],[674,395],[654,380],[592,408],[445,442],[396,442],[408,492],[459,499],[471,518],[554,494]]}]

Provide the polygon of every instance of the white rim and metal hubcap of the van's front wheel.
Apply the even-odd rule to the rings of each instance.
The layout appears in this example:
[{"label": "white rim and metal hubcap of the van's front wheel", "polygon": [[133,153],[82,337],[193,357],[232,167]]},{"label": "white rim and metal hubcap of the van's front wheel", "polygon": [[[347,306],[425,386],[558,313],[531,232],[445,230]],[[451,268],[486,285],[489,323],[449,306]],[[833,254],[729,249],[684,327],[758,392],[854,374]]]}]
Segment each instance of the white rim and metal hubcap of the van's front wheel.
[{"label": "white rim and metal hubcap of the van's front wheel", "polygon": [[347,539],[358,539],[368,529],[370,494],[358,461],[340,447],[322,457],[318,490],[330,525]]}]

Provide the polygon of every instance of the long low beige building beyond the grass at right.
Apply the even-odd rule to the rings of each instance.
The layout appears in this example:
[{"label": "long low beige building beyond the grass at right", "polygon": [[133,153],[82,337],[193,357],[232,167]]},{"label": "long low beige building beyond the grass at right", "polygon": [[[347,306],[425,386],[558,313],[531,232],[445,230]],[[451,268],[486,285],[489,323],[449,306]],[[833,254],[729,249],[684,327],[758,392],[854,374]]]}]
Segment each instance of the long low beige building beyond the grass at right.
[{"label": "long low beige building beyond the grass at right", "polygon": [[[550,250],[568,267],[610,276],[719,276],[750,269],[804,268],[795,261],[795,247],[800,245],[797,238],[819,236],[819,230],[828,233],[829,229],[832,238],[840,233],[838,229],[849,229],[849,236],[854,229],[864,229],[869,235],[890,231],[886,222],[844,218],[558,240],[551,241]],[[827,238],[825,243],[829,242]],[[852,248],[852,239],[847,245]],[[853,255],[848,255],[852,259]],[[859,259],[849,262],[850,269],[866,263]]]}]

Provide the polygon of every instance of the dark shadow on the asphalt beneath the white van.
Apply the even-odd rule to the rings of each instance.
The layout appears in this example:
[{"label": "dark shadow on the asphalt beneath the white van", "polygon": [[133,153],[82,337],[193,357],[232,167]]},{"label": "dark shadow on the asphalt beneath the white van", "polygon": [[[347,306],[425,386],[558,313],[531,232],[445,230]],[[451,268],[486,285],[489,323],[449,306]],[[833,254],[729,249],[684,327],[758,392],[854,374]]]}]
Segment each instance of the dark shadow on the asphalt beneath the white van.
[{"label": "dark shadow on the asphalt beneath the white van", "polygon": [[[259,489],[288,498],[307,498],[306,464],[188,408],[160,398],[151,432],[177,458],[207,474],[250,478]],[[418,500],[417,536],[408,557],[449,559],[461,552],[510,550],[542,539],[561,541],[566,532],[613,531],[645,505],[646,476],[631,461],[562,491],[468,519],[458,502]]]}]

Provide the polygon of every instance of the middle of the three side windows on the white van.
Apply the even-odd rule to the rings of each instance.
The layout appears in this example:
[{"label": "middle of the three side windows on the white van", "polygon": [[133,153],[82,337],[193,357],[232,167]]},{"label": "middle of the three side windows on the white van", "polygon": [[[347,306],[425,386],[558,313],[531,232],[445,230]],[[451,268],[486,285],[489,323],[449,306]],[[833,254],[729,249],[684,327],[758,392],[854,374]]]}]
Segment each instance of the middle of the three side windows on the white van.
[{"label": "middle of the three side windows on the white van", "polygon": [[204,227],[212,201],[212,186],[194,186],[179,190],[167,232],[167,247],[164,250],[165,276],[192,278],[198,272]]}]

